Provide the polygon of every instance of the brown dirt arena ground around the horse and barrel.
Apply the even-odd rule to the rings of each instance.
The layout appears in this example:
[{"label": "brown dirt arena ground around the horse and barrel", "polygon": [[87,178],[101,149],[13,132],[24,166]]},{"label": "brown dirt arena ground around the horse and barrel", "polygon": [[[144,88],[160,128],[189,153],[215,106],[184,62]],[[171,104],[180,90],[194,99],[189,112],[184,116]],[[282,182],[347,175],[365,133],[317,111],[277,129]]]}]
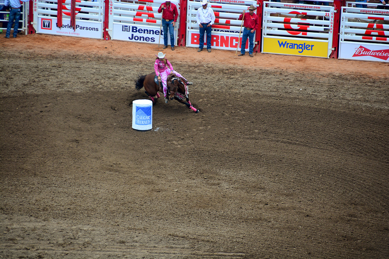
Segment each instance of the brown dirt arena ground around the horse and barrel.
[{"label": "brown dirt arena ground around the horse and barrel", "polygon": [[0,44],[0,258],[389,257],[389,64],[166,49],[142,132],[157,45]]}]

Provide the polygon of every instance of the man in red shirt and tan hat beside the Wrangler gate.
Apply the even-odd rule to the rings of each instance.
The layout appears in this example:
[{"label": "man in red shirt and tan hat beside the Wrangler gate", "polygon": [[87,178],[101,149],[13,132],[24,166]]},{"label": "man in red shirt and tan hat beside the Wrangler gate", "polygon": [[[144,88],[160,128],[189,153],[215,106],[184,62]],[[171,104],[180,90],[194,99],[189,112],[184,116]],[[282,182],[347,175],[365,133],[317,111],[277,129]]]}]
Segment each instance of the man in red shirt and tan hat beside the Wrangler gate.
[{"label": "man in red shirt and tan hat beside the Wrangler gate", "polygon": [[238,56],[243,56],[246,52],[246,41],[249,38],[249,55],[253,57],[252,50],[254,49],[254,35],[255,31],[258,29],[259,18],[258,15],[254,14],[254,10],[257,8],[254,5],[250,5],[249,13],[243,10],[243,14],[239,16],[239,20],[243,19],[243,36],[242,36],[242,47],[240,49],[240,54]]}]

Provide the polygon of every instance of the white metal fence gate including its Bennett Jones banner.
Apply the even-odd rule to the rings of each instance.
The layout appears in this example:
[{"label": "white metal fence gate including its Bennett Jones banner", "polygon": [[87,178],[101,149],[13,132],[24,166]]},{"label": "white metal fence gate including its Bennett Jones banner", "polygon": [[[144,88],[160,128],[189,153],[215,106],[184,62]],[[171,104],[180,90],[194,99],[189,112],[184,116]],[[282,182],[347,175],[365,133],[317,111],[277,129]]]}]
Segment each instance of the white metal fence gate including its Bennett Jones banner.
[{"label": "white metal fence gate including its Bennett Jones banner", "polygon": [[[172,0],[180,13],[179,1]],[[113,40],[163,44],[162,13],[158,8],[165,0],[114,1],[109,0],[109,23],[107,32]],[[179,19],[174,27],[175,45]],[[170,45],[170,36],[168,37]]]}]

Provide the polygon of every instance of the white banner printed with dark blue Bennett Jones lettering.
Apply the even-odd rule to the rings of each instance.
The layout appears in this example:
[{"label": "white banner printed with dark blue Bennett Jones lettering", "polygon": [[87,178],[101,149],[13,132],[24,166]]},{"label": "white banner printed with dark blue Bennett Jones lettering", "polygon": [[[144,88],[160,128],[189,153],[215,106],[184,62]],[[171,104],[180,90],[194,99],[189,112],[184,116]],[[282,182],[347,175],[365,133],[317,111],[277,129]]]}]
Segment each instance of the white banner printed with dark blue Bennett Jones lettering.
[{"label": "white banner printed with dark blue Bennett Jones lettering", "polygon": [[[156,26],[114,23],[113,35],[115,40],[163,44],[163,29],[159,31],[159,27]],[[174,39],[177,39],[175,30]],[[168,35],[168,43],[170,45],[170,35]]]}]

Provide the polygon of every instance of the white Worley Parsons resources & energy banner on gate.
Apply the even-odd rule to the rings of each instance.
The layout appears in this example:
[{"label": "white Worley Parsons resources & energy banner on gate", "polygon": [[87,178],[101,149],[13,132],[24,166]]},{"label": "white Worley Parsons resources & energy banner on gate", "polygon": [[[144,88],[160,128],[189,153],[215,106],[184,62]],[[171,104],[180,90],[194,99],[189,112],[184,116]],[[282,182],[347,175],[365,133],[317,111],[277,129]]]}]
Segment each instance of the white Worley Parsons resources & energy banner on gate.
[{"label": "white Worley Parsons resources & energy banner on gate", "polygon": [[38,22],[37,33],[102,39],[102,23],[100,22],[94,23],[92,21],[84,22],[77,20],[75,23],[75,30],[70,26],[70,19],[63,19],[61,28],[57,27],[56,17],[39,17]]}]

